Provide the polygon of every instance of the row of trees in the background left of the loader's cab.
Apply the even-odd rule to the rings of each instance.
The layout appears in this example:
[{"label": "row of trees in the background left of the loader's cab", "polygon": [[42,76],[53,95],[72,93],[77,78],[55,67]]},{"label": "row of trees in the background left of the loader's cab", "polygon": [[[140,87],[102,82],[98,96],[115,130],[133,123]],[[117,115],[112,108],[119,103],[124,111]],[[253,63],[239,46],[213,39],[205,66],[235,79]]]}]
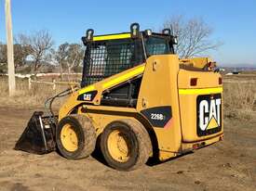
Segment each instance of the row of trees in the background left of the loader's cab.
[{"label": "row of trees in the background left of the loader's cab", "polygon": [[[50,32],[41,30],[29,35],[18,34],[14,38],[14,65],[22,68],[29,63],[31,71],[37,72],[46,63],[59,66],[60,72],[74,70],[83,59],[83,46],[64,43],[54,48]],[[0,43],[0,63],[7,63],[7,45]]]}]

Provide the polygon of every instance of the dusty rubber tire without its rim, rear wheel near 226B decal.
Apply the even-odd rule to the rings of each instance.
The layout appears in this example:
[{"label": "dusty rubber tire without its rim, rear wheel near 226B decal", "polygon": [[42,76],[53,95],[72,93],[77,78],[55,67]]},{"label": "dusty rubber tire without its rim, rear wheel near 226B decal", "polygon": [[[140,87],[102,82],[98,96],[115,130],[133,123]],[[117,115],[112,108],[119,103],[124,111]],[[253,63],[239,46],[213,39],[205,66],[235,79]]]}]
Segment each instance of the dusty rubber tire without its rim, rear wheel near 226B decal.
[{"label": "dusty rubber tire without its rim, rear wheel near 226B decal", "polygon": [[[114,131],[120,132],[128,141],[128,160],[116,160],[108,147],[108,139]],[[109,166],[119,171],[132,171],[145,164],[152,153],[149,134],[140,122],[133,120],[113,121],[101,134],[101,152]]]}]

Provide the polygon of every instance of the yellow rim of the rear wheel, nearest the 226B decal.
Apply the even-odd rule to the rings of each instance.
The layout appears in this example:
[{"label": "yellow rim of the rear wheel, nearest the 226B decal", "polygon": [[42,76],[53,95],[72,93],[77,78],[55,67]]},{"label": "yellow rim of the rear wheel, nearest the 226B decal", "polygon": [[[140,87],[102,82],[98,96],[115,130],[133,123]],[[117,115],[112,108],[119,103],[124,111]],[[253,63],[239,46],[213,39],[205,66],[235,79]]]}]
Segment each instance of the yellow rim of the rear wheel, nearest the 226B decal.
[{"label": "yellow rim of the rear wheel, nearest the 226B decal", "polygon": [[108,151],[113,159],[126,162],[129,159],[130,144],[128,138],[122,132],[115,130],[108,136]]}]

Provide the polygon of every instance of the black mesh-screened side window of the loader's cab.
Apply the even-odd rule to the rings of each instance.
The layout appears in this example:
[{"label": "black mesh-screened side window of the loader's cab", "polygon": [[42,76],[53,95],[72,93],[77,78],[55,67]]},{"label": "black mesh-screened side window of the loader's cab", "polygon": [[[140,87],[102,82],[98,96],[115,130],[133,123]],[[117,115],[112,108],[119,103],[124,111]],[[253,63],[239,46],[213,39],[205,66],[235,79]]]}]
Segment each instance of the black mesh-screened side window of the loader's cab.
[{"label": "black mesh-screened side window of the loader's cab", "polygon": [[119,39],[87,45],[81,86],[97,83],[144,61],[140,40]]}]

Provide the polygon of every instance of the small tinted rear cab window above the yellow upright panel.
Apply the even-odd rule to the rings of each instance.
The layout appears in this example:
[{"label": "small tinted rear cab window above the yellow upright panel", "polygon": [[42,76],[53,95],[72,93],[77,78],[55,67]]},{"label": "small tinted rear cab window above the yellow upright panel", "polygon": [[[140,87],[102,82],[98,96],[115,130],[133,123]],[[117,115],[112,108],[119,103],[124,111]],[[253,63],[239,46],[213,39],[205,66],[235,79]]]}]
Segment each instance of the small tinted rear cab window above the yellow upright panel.
[{"label": "small tinted rear cab window above the yellow upright panel", "polygon": [[168,40],[166,38],[150,36],[145,39],[145,45],[148,57],[170,53]]}]

